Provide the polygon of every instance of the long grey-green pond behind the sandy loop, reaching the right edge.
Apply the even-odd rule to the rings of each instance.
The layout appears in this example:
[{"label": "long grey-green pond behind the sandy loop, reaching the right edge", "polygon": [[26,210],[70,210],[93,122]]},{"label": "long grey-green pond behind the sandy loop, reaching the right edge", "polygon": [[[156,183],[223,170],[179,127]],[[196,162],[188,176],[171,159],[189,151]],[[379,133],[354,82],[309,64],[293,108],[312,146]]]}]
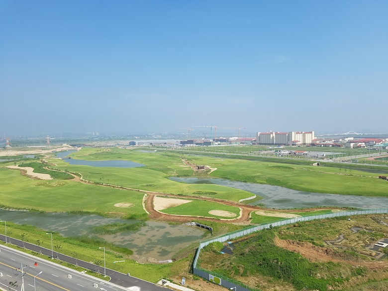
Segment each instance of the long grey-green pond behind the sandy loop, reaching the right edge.
[{"label": "long grey-green pond behind the sandy loop, reaching the right edge", "polygon": [[251,203],[264,204],[267,208],[290,209],[315,206],[356,207],[362,209],[382,208],[388,204],[388,197],[359,195],[322,194],[296,191],[280,186],[229,181],[226,179],[170,178],[172,181],[189,184],[216,184],[245,190],[262,196],[263,199]]}]

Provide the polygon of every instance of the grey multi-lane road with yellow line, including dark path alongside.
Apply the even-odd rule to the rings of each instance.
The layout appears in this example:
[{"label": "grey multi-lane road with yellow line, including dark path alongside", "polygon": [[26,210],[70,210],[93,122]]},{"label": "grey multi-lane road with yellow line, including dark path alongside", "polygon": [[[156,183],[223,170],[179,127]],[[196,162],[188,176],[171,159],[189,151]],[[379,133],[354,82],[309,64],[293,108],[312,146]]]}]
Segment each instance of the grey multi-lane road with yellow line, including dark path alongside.
[{"label": "grey multi-lane road with yellow line, including dark path alongside", "polygon": [[[5,236],[0,235],[0,239],[5,241]],[[23,246],[20,240],[7,237],[7,242],[11,241],[14,245]],[[93,276],[83,274],[82,272],[75,271],[73,269],[61,266],[57,262],[68,262],[71,264],[78,264],[78,266],[99,272],[103,274],[104,268],[98,267],[94,264],[76,260],[75,258],[65,256],[60,253],[54,252],[53,261],[51,257],[51,250],[38,247],[33,244],[24,242],[24,246],[27,249],[33,250],[37,253],[41,252],[42,255],[46,255],[48,260],[40,257],[32,256],[21,251],[9,248],[8,246],[0,245],[0,287],[8,289],[10,287],[9,282],[17,282],[19,291],[22,282],[21,268],[23,267],[24,289],[25,291],[33,291],[34,282],[33,278],[39,272],[41,274],[36,276],[35,284],[36,290],[39,291],[89,291],[89,290],[101,290],[101,291],[116,291],[116,290],[131,290],[131,291],[167,291],[168,288],[143,281],[141,279],[122,274],[114,270],[106,269],[106,276],[110,277],[110,281],[102,281]],[[35,265],[37,263],[37,266]],[[70,275],[70,276],[69,276]],[[94,287],[97,284],[97,287]],[[96,286],[96,285],[95,285]],[[12,290],[12,289],[11,289]],[[16,290],[16,288],[14,288]]]}]

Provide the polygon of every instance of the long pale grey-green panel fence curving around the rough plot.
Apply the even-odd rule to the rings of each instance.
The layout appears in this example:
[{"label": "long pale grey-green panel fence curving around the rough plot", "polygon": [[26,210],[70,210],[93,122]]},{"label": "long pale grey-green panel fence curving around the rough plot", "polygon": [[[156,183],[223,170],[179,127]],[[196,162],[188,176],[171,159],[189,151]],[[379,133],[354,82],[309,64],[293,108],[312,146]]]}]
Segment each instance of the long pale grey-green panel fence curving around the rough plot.
[{"label": "long pale grey-green panel fence curving around the rough plot", "polygon": [[382,209],[364,209],[364,210],[349,210],[349,211],[339,211],[339,212],[333,212],[333,213],[326,213],[326,214],[319,214],[319,215],[312,215],[312,216],[301,216],[291,219],[284,219],[272,223],[263,223],[255,226],[250,226],[241,230],[233,231],[215,238],[203,240],[199,242],[199,247],[196,251],[194,263],[193,263],[193,273],[199,277],[202,277],[203,279],[209,280],[213,283],[219,284],[223,287],[226,287],[228,289],[233,289],[235,291],[255,291],[253,289],[250,289],[248,286],[243,285],[237,281],[231,280],[230,278],[226,278],[224,276],[218,275],[214,272],[204,270],[200,267],[197,267],[196,264],[198,263],[198,258],[200,251],[203,247],[207,246],[209,243],[212,242],[226,242],[229,240],[233,240],[238,237],[246,236],[248,234],[251,234],[253,232],[261,231],[263,229],[275,227],[275,226],[282,226],[286,224],[292,224],[296,222],[302,222],[302,221],[310,221],[315,219],[326,219],[326,218],[334,218],[334,217],[340,217],[340,216],[353,216],[353,215],[368,215],[368,214],[382,214],[382,213],[388,213],[388,208],[382,208]]}]

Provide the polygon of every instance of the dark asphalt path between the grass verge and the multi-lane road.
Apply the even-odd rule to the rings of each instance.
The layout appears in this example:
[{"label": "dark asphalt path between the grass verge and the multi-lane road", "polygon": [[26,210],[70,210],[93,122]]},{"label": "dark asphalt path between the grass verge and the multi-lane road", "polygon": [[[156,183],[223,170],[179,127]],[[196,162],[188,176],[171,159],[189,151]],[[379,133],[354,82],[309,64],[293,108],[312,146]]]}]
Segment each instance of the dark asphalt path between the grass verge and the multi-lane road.
[{"label": "dark asphalt path between the grass verge and the multi-lane road", "polygon": [[[23,242],[21,240],[18,240],[18,239],[15,239],[15,238],[11,238],[9,236],[7,236],[6,239],[7,239],[7,243],[11,243],[12,245],[19,246],[19,247],[22,247],[22,248],[34,251],[36,253],[40,252],[42,255],[46,255],[49,258],[51,258],[52,250],[50,250],[50,249],[39,247],[37,245],[30,244],[28,242]],[[5,235],[0,234],[0,240],[5,242]],[[78,260],[76,258],[69,257],[69,256],[66,256],[64,254],[61,254],[61,253],[58,253],[58,252],[55,252],[55,251],[53,252],[53,257],[55,259],[57,259],[57,260],[60,260],[60,261],[63,261],[63,262],[67,262],[67,263],[70,263],[70,264],[73,264],[73,265],[77,264],[81,268],[84,268],[84,269],[87,269],[87,270],[91,270],[91,271],[96,272],[96,273],[100,273],[100,274],[104,273],[103,266],[102,267],[101,266],[97,266],[95,264],[88,263],[88,262],[85,262],[85,261],[82,261],[82,260]],[[122,286],[124,288],[130,288],[130,287],[136,286],[136,287],[139,287],[141,291],[166,291],[166,290],[171,290],[169,288],[162,287],[162,286],[156,285],[154,283],[141,280],[139,278],[128,276],[128,274],[123,274],[123,273],[120,273],[120,272],[117,272],[117,271],[114,271],[114,270],[111,270],[111,269],[107,269],[106,268],[105,272],[106,272],[106,276],[110,277],[109,282],[111,282],[113,284],[116,284],[118,286]]]}]

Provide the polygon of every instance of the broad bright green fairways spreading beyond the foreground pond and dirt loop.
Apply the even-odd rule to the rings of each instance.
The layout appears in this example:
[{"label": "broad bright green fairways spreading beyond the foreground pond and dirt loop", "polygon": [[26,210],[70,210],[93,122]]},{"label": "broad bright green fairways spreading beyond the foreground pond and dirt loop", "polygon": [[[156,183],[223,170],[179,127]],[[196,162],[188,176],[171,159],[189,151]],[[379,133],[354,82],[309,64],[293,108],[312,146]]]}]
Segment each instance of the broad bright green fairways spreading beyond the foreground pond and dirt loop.
[{"label": "broad bright green fairways spreading beyond the foreground pond and dirt loop", "polygon": [[[87,160],[129,160],[146,165],[141,168],[95,168],[70,165],[63,160],[48,158],[49,167],[64,172],[80,173],[83,179],[95,185],[69,181],[69,175],[57,176],[51,181],[36,181],[23,177],[16,170],[0,168],[1,204],[17,209],[43,211],[87,211],[91,213],[121,212],[122,215],[142,215],[142,195],[139,192],[118,190],[96,184],[110,184],[119,187],[156,191],[176,195],[209,196],[238,201],[251,193],[211,184],[184,184],[168,179],[172,176],[191,177],[194,171],[185,165],[182,154],[170,151],[142,152],[128,149],[85,148],[72,154],[72,158]],[[217,168],[211,177],[242,182],[264,183],[283,186],[299,191],[387,196],[388,184],[377,175],[336,167],[314,167],[281,163],[258,162],[209,156],[184,156],[197,165]],[[1,162],[0,165],[13,165]],[[41,163],[34,159],[18,162],[42,170]],[[47,171],[47,170],[45,170]],[[48,171],[58,173],[54,171]],[[66,199],[63,199],[66,197]],[[42,198],[42,199],[40,199]],[[44,198],[44,199],[43,199]],[[131,202],[132,208],[114,207],[117,202]]]}]

